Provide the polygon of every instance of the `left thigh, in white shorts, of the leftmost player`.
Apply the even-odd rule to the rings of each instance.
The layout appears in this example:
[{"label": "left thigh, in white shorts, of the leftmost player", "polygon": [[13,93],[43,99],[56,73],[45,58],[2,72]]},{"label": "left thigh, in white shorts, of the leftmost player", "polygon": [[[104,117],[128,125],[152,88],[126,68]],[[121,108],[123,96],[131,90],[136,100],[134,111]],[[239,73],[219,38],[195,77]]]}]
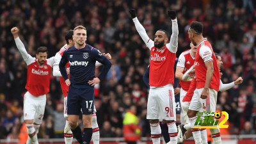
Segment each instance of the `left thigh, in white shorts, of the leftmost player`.
[{"label": "left thigh, in white shorts, of the leftmost player", "polygon": [[33,120],[35,118],[36,108],[35,108],[35,100],[33,99],[33,95],[29,92],[26,92],[24,95],[24,120]]}]

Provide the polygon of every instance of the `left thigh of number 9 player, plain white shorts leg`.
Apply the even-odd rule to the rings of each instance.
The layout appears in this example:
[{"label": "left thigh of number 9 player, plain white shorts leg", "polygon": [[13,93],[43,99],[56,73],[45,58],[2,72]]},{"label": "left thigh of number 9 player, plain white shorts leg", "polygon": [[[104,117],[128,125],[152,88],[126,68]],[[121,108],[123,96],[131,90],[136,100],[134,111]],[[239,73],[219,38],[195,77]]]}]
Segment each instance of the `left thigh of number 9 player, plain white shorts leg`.
[{"label": "left thigh of number 9 player, plain white shorts leg", "polygon": [[156,120],[159,105],[157,102],[157,90],[156,88],[150,88],[148,93],[148,104],[147,104],[147,119]]}]

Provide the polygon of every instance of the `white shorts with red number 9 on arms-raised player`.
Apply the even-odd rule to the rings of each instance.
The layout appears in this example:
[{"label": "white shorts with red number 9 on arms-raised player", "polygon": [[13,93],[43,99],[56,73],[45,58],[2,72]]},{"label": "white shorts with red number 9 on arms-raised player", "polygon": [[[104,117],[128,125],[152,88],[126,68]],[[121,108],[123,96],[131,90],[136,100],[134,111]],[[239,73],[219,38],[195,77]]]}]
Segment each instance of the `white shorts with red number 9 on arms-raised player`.
[{"label": "white shorts with red number 9 on arms-raised player", "polygon": [[176,103],[172,84],[150,87],[147,104],[147,119],[176,121]]}]

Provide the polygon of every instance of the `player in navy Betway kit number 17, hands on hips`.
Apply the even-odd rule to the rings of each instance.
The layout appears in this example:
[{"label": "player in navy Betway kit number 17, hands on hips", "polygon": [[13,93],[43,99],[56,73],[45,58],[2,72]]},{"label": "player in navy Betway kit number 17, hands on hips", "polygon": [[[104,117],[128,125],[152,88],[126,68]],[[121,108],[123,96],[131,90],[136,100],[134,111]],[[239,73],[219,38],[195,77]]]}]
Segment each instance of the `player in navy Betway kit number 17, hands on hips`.
[{"label": "player in navy Betway kit number 17, hands on hips", "polygon": [[[94,85],[106,76],[111,62],[100,51],[86,44],[86,28],[74,28],[73,40],[75,45],[63,52],[59,63],[61,76],[68,88],[67,115],[71,131],[79,143],[90,143],[92,139],[92,114],[94,109]],[[95,77],[95,62],[104,65],[99,77]],[[65,65],[69,62],[70,79]],[[77,125],[79,113],[82,109],[83,127],[82,134]]]}]

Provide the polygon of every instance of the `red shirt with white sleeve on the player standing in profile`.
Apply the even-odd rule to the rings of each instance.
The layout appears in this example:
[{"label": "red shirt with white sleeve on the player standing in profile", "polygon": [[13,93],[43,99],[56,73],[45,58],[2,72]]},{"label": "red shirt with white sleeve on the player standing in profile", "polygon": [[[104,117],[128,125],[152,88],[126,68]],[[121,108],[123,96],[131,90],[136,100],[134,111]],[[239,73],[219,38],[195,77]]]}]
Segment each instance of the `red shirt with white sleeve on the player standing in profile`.
[{"label": "red shirt with white sleeve on the player standing in profile", "polygon": [[213,62],[214,74],[212,76],[211,84],[209,88],[219,91],[220,86],[220,70],[218,68],[218,63],[215,54],[212,50],[210,42],[204,38],[198,43],[196,49],[196,59],[195,59],[195,73],[196,73],[196,88],[204,88],[207,68],[205,63],[208,61]]}]

